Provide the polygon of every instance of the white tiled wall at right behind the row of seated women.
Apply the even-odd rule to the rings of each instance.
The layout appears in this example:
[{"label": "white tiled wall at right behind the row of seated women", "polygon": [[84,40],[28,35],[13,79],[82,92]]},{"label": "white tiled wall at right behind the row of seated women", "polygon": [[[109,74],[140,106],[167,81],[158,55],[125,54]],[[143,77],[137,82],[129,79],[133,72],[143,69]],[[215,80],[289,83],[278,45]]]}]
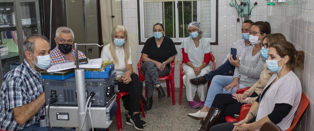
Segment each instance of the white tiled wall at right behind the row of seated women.
[{"label": "white tiled wall at right behind the row of seated women", "polygon": [[274,14],[267,16],[272,33],[284,34],[297,50],[305,52],[305,68],[295,73],[310,103],[296,130],[314,131],[314,0],[286,0],[276,3],[273,9]]}]

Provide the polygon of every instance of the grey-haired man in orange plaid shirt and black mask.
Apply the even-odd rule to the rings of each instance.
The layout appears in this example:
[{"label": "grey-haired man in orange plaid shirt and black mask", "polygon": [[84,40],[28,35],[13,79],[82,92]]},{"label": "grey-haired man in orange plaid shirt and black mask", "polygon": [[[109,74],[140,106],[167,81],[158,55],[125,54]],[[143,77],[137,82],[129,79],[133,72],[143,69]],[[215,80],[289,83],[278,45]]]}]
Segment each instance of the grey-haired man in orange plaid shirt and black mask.
[{"label": "grey-haired man in orange plaid shirt and black mask", "polygon": [[[55,42],[56,48],[51,50],[50,66],[61,63],[74,62],[75,50],[73,48],[74,34],[73,31],[68,27],[59,27],[56,30]],[[78,51],[78,59],[84,59],[86,56],[83,52]]]}]

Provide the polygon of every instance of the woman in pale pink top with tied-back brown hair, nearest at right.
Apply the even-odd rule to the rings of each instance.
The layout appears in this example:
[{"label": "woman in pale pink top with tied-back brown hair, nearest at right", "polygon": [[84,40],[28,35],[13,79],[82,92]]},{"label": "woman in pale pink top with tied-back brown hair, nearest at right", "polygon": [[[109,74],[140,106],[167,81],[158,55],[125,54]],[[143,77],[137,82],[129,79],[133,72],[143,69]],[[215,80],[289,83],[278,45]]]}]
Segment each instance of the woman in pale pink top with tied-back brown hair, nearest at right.
[{"label": "woman in pale pink top with tied-back brown hair, nearest at right", "polygon": [[273,122],[282,130],[290,128],[302,94],[301,82],[293,72],[304,67],[304,52],[295,50],[288,41],[269,46],[267,68],[275,74],[268,80],[261,95],[240,122],[214,125],[210,131],[248,131]]}]

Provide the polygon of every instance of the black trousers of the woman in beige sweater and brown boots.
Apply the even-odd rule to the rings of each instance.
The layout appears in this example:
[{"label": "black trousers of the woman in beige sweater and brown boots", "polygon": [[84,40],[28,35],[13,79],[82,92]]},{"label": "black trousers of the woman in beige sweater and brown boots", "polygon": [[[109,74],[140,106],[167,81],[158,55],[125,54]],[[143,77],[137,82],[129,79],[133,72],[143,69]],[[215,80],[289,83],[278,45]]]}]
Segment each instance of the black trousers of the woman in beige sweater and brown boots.
[{"label": "black trousers of the woman in beige sweater and brown boots", "polygon": [[[258,96],[255,92],[250,97]],[[232,94],[217,94],[213,101],[212,106],[222,110],[223,113],[218,123],[225,123],[225,116],[234,116],[239,114],[241,106],[246,103],[240,103],[236,99],[232,98]]]}]

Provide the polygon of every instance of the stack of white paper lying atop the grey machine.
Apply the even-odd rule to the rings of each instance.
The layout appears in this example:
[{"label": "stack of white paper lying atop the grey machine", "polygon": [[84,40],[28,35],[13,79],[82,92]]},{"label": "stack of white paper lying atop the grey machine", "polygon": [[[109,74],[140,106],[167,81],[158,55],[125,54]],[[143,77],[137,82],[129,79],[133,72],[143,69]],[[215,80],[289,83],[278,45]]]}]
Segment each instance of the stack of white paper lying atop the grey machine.
[{"label": "stack of white paper lying atop the grey machine", "polygon": [[[56,72],[56,71],[76,68],[76,65],[74,63],[75,62],[56,64],[56,65],[51,66],[49,69],[47,69],[47,72]],[[78,68],[101,68],[101,64],[102,64],[102,58],[90,59],[88,60],[87,64],[78,65]]]}]

